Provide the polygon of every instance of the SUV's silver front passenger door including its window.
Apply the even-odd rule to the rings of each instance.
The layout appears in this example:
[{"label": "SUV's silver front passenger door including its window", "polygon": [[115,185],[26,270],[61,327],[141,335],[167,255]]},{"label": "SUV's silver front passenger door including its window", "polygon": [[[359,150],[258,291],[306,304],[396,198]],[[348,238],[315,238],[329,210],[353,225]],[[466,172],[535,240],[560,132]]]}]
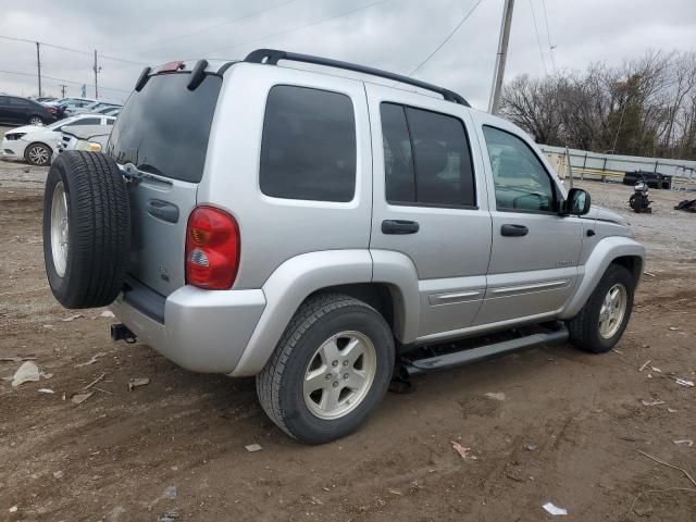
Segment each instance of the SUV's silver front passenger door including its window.
[{"label": "SUV's silver front passenger door including its window", "polygon": [[577,279],[583,224],[562,216],[562,186],[533,142],[513,125],[477,113],[487,150],[493,245],[478,325],[551,318]]}]

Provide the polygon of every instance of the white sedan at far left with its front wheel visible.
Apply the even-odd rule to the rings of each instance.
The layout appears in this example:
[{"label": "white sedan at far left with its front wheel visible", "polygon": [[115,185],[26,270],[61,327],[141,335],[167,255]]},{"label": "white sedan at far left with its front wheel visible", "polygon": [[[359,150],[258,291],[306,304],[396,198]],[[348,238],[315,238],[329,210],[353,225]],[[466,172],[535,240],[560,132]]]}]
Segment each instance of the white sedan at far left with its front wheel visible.
[{"label": "white sedan at far left with its front wheel visible", "polygon": [[44,166],[51,161],[51,156],[58,147],[62,129],[83,125],[112,126],[116,119],[99,114],[79,114],[61,120],[46,127],[26,125],[5,133],[0,146],[0,159],[20,160],[33,165]]}]

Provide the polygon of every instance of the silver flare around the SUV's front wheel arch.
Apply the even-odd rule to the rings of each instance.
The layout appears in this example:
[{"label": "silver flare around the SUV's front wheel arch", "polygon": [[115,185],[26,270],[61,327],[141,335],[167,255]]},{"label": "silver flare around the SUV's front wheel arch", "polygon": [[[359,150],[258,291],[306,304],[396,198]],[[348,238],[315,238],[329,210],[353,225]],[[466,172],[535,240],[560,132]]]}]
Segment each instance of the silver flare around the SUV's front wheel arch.
[{"label": "silver flare around the SUV's front wheel arch", "polygon": [[639,260],[639,266],[634,271],[637,278],[643,273],[645,247],[627,237],[610,236],[601,239],[583,266],[579,266],[579,283],[575,294],[560,314],[560,319],[572,319],[585,306],[587,299],[597,287],[599,279],[609,265],[618,258],[631,257]]}]

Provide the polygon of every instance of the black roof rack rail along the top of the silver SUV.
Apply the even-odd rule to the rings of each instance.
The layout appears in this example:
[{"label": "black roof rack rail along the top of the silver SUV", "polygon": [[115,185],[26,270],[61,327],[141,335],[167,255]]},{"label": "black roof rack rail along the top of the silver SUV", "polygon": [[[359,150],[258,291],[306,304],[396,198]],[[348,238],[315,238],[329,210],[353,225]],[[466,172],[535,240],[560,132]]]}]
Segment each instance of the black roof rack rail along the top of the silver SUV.
[{"label": "black roof rack rail along the top of the silver SUV", "polygon": [[437,92],[438,95],[442,95],[443,98],[445,98],[447,101],[452,101],[455,103],[459,103],[460,105],[464,105],[464,107],[471,107],[464,98],[459,96],[457,92],[452,92],[449,89],[445,89],[443,87],[438,87],[433,84],[427,84],[425,82],[420,82],[418,79],[409,78],[408,76],[402,76],[400,74],[382,71],[380,69],[365,67],[363,65],[358,65],[356,63],[341,62],[339,60],[331,60],[328,58],[312,57],[311,54],[300,54],[297,52],[279,51],[277,49],[257,49],[256,51],[251,51],[249,54],[247,54],[247,58],[244,59],[245,62],[265,63],[269,65],[277,65],[278,61],[281,60],[313,63],[316,65],[325,65],[327,67],[336,67],[336,69],[345,69],[347,71],[355,71],[357,73],[369,74],[371,76],[380,76],[382,78],[393,79],[400,84],[408,84],[414,87],[419,87],[421,89],[431,90],[433,92]]}]

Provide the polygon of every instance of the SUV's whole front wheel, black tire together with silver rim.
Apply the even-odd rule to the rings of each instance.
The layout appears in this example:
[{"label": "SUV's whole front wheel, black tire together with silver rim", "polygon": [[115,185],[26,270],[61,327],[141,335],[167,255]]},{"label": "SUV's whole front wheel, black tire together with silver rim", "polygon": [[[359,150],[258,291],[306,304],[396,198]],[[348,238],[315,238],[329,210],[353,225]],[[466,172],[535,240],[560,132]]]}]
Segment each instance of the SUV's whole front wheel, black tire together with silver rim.
[{"label": "SUV's whole front wheel, black tire together with silver rim", "polygon": [[609,351],[631,319],[635,278],[620,264],[610,264],[589,299],[568,322],[570,341],[592,353]]}]

